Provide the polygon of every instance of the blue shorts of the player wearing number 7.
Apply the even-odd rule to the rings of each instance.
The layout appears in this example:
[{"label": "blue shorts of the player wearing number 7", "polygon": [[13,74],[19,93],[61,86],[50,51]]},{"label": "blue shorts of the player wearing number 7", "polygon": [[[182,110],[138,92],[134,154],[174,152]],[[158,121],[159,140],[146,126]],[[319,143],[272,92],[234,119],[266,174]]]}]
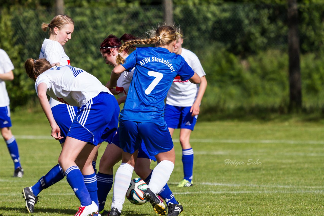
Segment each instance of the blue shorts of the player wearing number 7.
[{"label": "blue shorts of the player wearing number 7", "polygon": [[168,152],[173,148],[172,138],[165,122],[135,122],[120,119],[119,126],[120,147],[124,152],[134,153],[139,149],[142,140],[150,156]]}]

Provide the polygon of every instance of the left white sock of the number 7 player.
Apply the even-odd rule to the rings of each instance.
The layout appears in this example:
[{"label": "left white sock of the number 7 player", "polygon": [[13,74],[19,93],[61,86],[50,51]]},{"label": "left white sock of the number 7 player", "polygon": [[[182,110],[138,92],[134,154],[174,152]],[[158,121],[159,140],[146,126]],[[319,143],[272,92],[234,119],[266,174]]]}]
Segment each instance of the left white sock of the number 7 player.
[{"label": "left white sock of the number 7 player", "polygon": [[121,165],[117,169],[114,181],[111,208],[117,208],[119,211],[122,210],[122,205],[125,201],[125,195],[132,180],[133,170],[134,167],[126,163],[121,163]]}]

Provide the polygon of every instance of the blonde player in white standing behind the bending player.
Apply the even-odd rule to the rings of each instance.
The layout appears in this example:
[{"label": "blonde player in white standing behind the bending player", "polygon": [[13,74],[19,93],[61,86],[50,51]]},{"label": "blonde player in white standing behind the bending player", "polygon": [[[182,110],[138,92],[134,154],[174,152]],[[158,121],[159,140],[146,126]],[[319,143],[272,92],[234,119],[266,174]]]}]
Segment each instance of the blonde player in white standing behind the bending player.
[{"label": "blonde player in white standing behind the bending player", "polygon": [[[43,41],[39,58],[45,58],[52,66],[71,65],[70,58],[64,52],[63,45],[71,39],[74,31],[74,21],[72,18],[67,15],[57,15],[52,18],[50,23],[43,23],[41,29],[43,31],[49,29],[50,37]],[[59,142],[63,147],[66,134],[69,131],[78,108],[64,104],[53,98],[50,99],[50,106],[55,122],[61,130],[61,139],[59,139]],[[97,185],[88,181],[88,179],[92,179],[93,177],[95,176],[85,176],[85,183],[89,189],[90,196],[94,197],[93,200],[97,203]],[[52,186],[63,178],[64,173],[62,168],[57,164],[45,176],[42,176],[34,186],[24,188],[22,193],[25,197],[28,212],[34,212],[34,206],[38,201],[37,196],[43,189]]]}]

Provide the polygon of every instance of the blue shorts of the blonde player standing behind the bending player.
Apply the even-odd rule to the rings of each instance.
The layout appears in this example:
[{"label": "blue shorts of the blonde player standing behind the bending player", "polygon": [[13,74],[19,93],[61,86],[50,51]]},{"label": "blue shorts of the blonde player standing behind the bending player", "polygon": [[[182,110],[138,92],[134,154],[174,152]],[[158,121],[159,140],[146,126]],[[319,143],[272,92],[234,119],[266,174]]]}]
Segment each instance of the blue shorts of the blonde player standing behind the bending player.
[{"label": "blue shorts of the blonde player standing behind the bending player", "polygon": [[61,136],[64,138],[59,140],[60,143],[65,142],[66,135],[69,132],[69,128],[75,118],[76,113],[78,112],[78,107],[72,107],[67,104],[58,104],[52,109],[53,117],[56,121],[56,124],[61,130]]}]

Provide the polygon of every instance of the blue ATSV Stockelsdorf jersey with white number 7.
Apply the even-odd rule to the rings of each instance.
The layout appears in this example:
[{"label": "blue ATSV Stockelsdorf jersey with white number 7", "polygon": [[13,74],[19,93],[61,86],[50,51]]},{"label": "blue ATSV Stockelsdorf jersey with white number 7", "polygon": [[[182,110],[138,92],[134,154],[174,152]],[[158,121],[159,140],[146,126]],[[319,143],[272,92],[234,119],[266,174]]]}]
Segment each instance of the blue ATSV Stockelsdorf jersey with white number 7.
[{"label": "blue ATSV Stockelsdorf jersey with white number 7", "polygon": [[162,47],[139,47],[122,66],[135,70],[120,119],[138,122],[164,122],[164,98],[173,79],[188,80],[195,73],[181,55]]}]

